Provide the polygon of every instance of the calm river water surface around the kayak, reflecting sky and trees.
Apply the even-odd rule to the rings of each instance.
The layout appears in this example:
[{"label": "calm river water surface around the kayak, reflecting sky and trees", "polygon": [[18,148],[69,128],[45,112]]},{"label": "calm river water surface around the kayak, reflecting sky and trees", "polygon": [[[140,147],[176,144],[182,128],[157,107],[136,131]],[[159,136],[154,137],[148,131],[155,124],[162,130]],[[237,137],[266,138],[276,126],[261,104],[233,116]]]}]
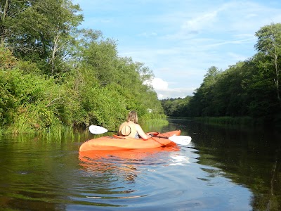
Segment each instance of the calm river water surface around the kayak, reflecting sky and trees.
[{"label": "calm river water surface around the kayak, reflecting sky and trees", "polygon": [[0,138],[0,210],[281,210],[281,135],[170,120],[189,146],[79,154],[61,141]]}]

